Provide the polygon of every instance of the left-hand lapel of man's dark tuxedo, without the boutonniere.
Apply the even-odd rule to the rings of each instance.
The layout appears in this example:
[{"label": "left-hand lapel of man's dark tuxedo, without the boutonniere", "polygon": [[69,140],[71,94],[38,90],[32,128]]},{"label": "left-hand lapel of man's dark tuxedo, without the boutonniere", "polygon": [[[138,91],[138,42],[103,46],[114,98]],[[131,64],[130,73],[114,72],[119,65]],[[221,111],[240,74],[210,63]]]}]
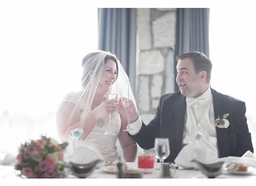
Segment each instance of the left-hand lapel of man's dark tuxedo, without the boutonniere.
[{"label": "left-hand lapel of man's dark tuxedo, without the boutonniere", "polygon": [[184,117],[186,111],[186,97],[180,96],[175,101],[175,138],[177,141],[178,152],[182,149],[182,136],[184,130]]}]

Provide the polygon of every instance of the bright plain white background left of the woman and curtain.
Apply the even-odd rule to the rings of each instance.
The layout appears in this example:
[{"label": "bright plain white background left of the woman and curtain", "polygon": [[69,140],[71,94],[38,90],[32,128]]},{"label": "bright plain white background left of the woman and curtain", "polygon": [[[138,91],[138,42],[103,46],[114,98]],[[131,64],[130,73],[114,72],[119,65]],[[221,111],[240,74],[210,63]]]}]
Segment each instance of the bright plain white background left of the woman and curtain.
[{"label": "bright plain white background left of the woman and curtain", "polygon": [[81,89],[81,60],[97,49],[97,8],[87,2],[0,2],[0,150],[58,139],[55,111]]}]

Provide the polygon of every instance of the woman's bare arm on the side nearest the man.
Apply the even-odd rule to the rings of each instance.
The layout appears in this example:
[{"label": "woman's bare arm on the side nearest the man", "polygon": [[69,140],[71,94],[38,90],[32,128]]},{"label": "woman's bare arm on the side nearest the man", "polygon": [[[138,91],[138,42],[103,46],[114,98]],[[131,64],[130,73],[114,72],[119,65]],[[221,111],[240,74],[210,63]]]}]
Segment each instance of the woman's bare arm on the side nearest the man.
[{"label": "woman's bare arm on the side nearest the man", "polygon": [[130,138],[128,132],[124,132],[126,129],[127,120],[120,114],[121,117],[121,131],[118,137],[120,142],[123,156],[127,162],[134,162],[137,155],[137,144],[136,142]]}]

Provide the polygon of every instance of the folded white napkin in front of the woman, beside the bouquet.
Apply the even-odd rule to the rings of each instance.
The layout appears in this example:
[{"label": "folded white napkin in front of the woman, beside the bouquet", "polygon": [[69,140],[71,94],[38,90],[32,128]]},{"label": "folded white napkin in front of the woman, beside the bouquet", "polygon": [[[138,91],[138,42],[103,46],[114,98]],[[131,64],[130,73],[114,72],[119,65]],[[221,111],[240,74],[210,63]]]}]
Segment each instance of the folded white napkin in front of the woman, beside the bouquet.
[{"label": "folded white napkin in front of the woman, beside the bouquet", "polygon": [[69,142],[66,152],[64,153],[64,161],[67,163],[72,161],[77,164],[88,164],[96,159],[101,159],[102,162],[104,162],[104,156],[99,149],[85,141]]}]

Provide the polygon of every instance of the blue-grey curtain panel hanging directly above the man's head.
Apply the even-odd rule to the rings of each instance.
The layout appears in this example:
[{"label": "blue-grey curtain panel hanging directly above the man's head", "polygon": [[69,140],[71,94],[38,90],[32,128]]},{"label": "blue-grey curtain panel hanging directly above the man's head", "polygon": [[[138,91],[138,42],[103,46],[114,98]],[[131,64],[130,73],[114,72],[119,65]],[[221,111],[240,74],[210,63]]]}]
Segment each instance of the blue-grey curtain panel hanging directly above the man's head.
[{"label": "blue-grey curtain panel hanging directly above the man's head", "polygon": [[175,43],[175,56],[199,51],[209,57],[209,8],[177,8]]}]

